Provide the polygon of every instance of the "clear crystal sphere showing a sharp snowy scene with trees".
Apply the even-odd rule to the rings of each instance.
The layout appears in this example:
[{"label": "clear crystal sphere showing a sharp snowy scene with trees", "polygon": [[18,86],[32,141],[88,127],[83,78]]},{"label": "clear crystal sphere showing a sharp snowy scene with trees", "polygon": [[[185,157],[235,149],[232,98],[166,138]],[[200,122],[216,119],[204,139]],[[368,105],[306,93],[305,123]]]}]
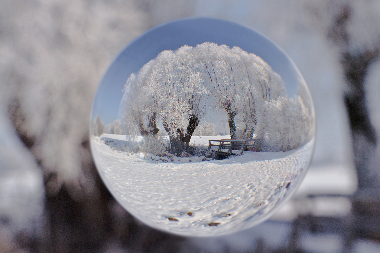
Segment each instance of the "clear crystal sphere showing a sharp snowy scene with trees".
[{"label": "clear crystal sphere showing a sharp snowy scene with trees", "polygon": [[116,57],[95,95],[90,140],[103,182],[141,222],[216,236],[263,222],[294,193],[315,115],[298,68],[268,38],[182,19]]}]

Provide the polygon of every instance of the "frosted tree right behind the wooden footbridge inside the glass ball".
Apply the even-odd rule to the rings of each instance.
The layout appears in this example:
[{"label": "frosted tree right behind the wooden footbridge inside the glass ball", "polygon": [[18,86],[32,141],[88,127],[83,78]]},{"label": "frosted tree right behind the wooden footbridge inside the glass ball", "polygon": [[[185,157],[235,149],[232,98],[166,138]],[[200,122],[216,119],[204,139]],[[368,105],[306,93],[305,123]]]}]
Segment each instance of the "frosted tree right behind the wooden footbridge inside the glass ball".
[{"label": "frosted tree right behind the wooden footbridge inside the glass ball", "polygon": [[[230,49],[215,43],[203,43],[194,48],[203,63],[203,78],[214,97],[214,107],[228,115],[231,139],[252,137],[256,125],[256,111],[264,101],[287,96],[279,74],[263,59],[239,47]],[[235,116],[245,122],[244,135],[235,133]]]}]

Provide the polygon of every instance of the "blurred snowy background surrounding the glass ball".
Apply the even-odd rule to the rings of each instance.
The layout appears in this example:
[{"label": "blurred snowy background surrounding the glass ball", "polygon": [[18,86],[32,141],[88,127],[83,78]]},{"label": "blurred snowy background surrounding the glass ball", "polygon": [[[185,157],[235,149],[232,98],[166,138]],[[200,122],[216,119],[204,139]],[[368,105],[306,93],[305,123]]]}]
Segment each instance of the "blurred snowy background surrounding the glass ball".
[{"label": "blurred snowy background surrounding the glass ball", "polygon": [[[141,224],[93,166],[98,82],[133,38],[207,16],[271,38],[299,67],[317,114],[310,170],[271,220],[225,237]],[[380,252],[380,2],[3,0],[0,252]]]}]

